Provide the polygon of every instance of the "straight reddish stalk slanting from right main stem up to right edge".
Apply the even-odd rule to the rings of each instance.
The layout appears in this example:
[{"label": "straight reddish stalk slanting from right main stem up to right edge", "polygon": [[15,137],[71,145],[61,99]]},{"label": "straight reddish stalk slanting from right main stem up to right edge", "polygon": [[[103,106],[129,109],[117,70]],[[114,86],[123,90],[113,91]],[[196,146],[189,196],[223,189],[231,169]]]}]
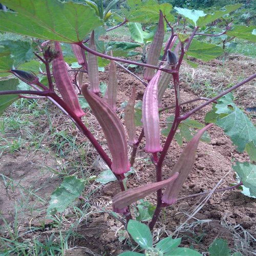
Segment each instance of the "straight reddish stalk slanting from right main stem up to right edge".
[{"label": "straight reddish stalk slanting from right main stem up to right edge", "polygon": [[222,92],[221,94],[215,96],[214,98],[209,99],[208,101],[206,101],[205,103],[203,103],[202,105],[198,106],[197,108],[195,108],[194,110],[191,110],[189,112],[187,112],[185,115],[179,117],[179,121],[185,120],[187,119],[189,116],[191,116],[192,114],[194,114],[195,112],[197,112],[198,110],[204,108],[204,106],[207,106],[208,104],[216,101],[217,99],[221,98],[222,96],[226,95],[227,93],[232,92],[233,90],[239,88],[240,86],[242,86],[243,84],[249,82],[250,80],[256,78],[256,73],[250,77],[248,77],[247,79],[243,80],[242,82],[239,82],[238,84],[236,84],[236,86],[233,86],[229,89],[227,89],[226,91]]}]

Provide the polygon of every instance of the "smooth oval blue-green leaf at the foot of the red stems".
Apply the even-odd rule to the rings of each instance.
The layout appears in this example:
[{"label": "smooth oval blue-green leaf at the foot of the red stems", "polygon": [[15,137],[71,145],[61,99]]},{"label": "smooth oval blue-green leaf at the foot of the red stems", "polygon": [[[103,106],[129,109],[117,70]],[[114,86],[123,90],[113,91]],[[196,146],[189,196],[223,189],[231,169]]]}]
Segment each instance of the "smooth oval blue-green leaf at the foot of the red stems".
[{"label": "smooth oval blue-green leaf at the foot of the red stems", "polygon": [[130,220],[127,225],[127,231],[132,238],[143,249],[148,249],[153,246],[153,239],[150,228],[138,221]]}]

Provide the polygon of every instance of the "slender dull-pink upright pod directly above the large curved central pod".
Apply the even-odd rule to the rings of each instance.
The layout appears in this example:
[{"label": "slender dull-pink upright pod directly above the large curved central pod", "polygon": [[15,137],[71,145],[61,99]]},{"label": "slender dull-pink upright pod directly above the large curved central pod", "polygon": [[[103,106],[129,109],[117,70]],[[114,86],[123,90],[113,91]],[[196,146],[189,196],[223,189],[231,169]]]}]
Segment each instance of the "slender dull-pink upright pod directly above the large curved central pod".
[{"label": "slender dull-pink upright pod directly above the large curved central pod", "polygon": [[[111,56],[113,56],[112,51],[111,51]],[[114,60],[111,60],[107,102],[110,105],[112,110],[116,110],[117,85],[118,85],[118,82],[117,82],[117,76],[116,76],[116,66],[115,66]]]}]

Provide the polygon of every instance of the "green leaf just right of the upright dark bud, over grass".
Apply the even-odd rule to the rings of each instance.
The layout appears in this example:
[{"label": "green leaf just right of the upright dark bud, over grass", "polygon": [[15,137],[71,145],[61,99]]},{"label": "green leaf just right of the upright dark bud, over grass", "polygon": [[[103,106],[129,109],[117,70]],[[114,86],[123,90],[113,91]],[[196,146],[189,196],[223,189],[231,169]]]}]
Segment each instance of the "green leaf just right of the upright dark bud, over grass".
[{"label": "green leaf just right of the upright dark bud, over grass", "polygon": [[206,42],[193,39],[186,54],[203,61],[208,61],[221,56],[223,51],[224,50],[220,46],[207,44]]}]

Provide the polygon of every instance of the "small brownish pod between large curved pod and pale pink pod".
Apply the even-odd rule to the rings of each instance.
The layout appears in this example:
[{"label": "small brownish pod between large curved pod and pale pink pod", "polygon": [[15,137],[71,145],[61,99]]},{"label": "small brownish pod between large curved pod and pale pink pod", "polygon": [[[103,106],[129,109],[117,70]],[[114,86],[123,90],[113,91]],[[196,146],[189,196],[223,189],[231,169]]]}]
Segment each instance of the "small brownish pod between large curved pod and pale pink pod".
[{"label": "small brownish pod between large curved pod and pale pink pod", "polygon": [[134,105],[135,105],[135,87],[133,88],[132,96],[129,99],[124,110],[124,121],[127,129],[129,143],[135,144],[138,142],[136,138],[136,127],[134,120]]}]

